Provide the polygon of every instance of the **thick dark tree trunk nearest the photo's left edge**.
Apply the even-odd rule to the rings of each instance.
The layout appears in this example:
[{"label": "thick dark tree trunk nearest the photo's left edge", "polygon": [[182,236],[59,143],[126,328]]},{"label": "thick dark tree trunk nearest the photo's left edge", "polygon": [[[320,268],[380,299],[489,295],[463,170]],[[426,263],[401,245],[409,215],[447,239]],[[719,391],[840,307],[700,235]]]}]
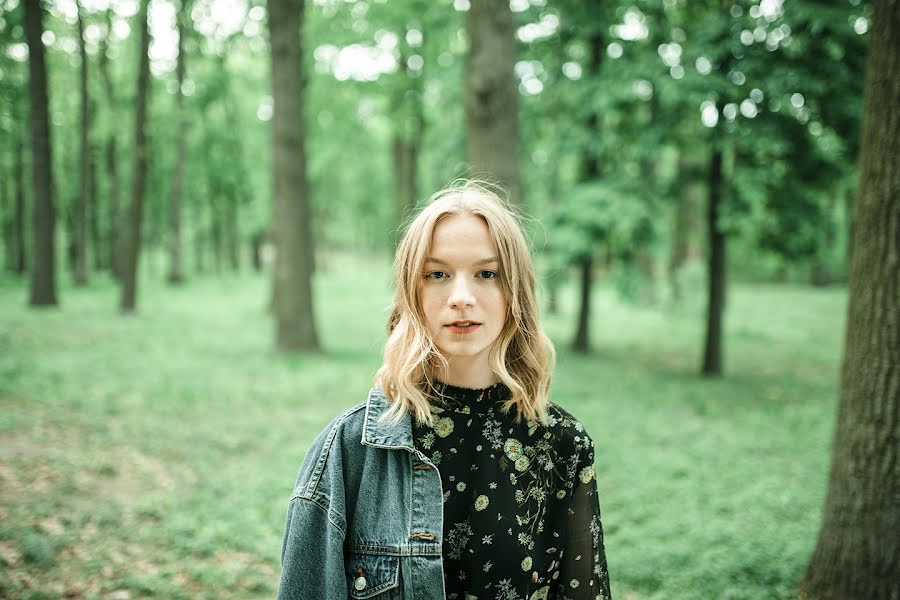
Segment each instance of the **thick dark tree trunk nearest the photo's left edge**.
[{"label": "thick dark tree trunk nearest the photo's left edge", "polygon": [[55,306],[56,272],[53,207],[53,163],[48,118],[47,66],[44,61],[43,9],[40,0],[25,0],[25,38],[28,42],[28,92],[31,100],[32,264],[31,306]]}]

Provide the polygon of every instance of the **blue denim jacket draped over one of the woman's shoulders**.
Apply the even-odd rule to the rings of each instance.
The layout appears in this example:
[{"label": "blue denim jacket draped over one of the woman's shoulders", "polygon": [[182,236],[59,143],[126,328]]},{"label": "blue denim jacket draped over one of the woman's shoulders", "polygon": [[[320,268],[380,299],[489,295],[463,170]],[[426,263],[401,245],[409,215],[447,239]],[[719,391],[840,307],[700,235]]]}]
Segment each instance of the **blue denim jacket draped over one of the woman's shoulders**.
[{"label": "blue denim jacket draped over one of the woman's shoulders", "polygon": [[380,389],[313,442],[294,486],[279,600],[443,600],[440,474]]}]

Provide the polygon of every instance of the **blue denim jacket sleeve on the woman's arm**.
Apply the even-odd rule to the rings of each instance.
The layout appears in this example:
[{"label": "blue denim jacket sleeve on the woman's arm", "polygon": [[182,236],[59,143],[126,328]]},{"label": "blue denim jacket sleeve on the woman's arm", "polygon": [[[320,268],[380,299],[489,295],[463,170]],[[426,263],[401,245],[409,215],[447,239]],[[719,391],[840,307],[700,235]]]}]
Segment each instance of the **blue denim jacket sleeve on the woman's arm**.
[{"label": "blue denim jacket sleeve on the woman's arm", "polygon": [[291,495],[281,550],[278,600],[346,598],[345,422],[336,417],[313,442]]}]

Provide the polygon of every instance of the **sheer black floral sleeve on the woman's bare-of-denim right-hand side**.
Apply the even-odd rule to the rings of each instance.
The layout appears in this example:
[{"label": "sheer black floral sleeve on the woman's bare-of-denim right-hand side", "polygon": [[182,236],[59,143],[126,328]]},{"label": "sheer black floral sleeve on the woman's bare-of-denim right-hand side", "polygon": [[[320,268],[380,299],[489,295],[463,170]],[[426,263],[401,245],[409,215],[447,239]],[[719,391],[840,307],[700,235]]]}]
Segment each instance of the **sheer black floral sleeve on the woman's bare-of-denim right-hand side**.
[{"label": "sheer black floral sleeve on the woman's bare-of-denim right-hand side", "polygon": [[609,600],[609,572],[594,477],[594,446],[585,450],[575,475],[560,565],[559,600]]}]

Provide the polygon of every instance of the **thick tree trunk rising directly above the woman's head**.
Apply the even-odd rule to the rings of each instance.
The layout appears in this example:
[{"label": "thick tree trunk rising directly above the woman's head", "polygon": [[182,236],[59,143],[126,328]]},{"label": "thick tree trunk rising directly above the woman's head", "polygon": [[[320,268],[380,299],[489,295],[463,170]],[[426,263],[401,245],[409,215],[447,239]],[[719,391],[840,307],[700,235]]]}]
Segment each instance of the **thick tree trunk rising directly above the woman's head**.
[{"label": "thick tree trunk rising directly above the woman's head", "polygon": [[522,202],[519,173],[519,84],[516,25],[507,0],[472,2],[466,16],[466,160]]}]

